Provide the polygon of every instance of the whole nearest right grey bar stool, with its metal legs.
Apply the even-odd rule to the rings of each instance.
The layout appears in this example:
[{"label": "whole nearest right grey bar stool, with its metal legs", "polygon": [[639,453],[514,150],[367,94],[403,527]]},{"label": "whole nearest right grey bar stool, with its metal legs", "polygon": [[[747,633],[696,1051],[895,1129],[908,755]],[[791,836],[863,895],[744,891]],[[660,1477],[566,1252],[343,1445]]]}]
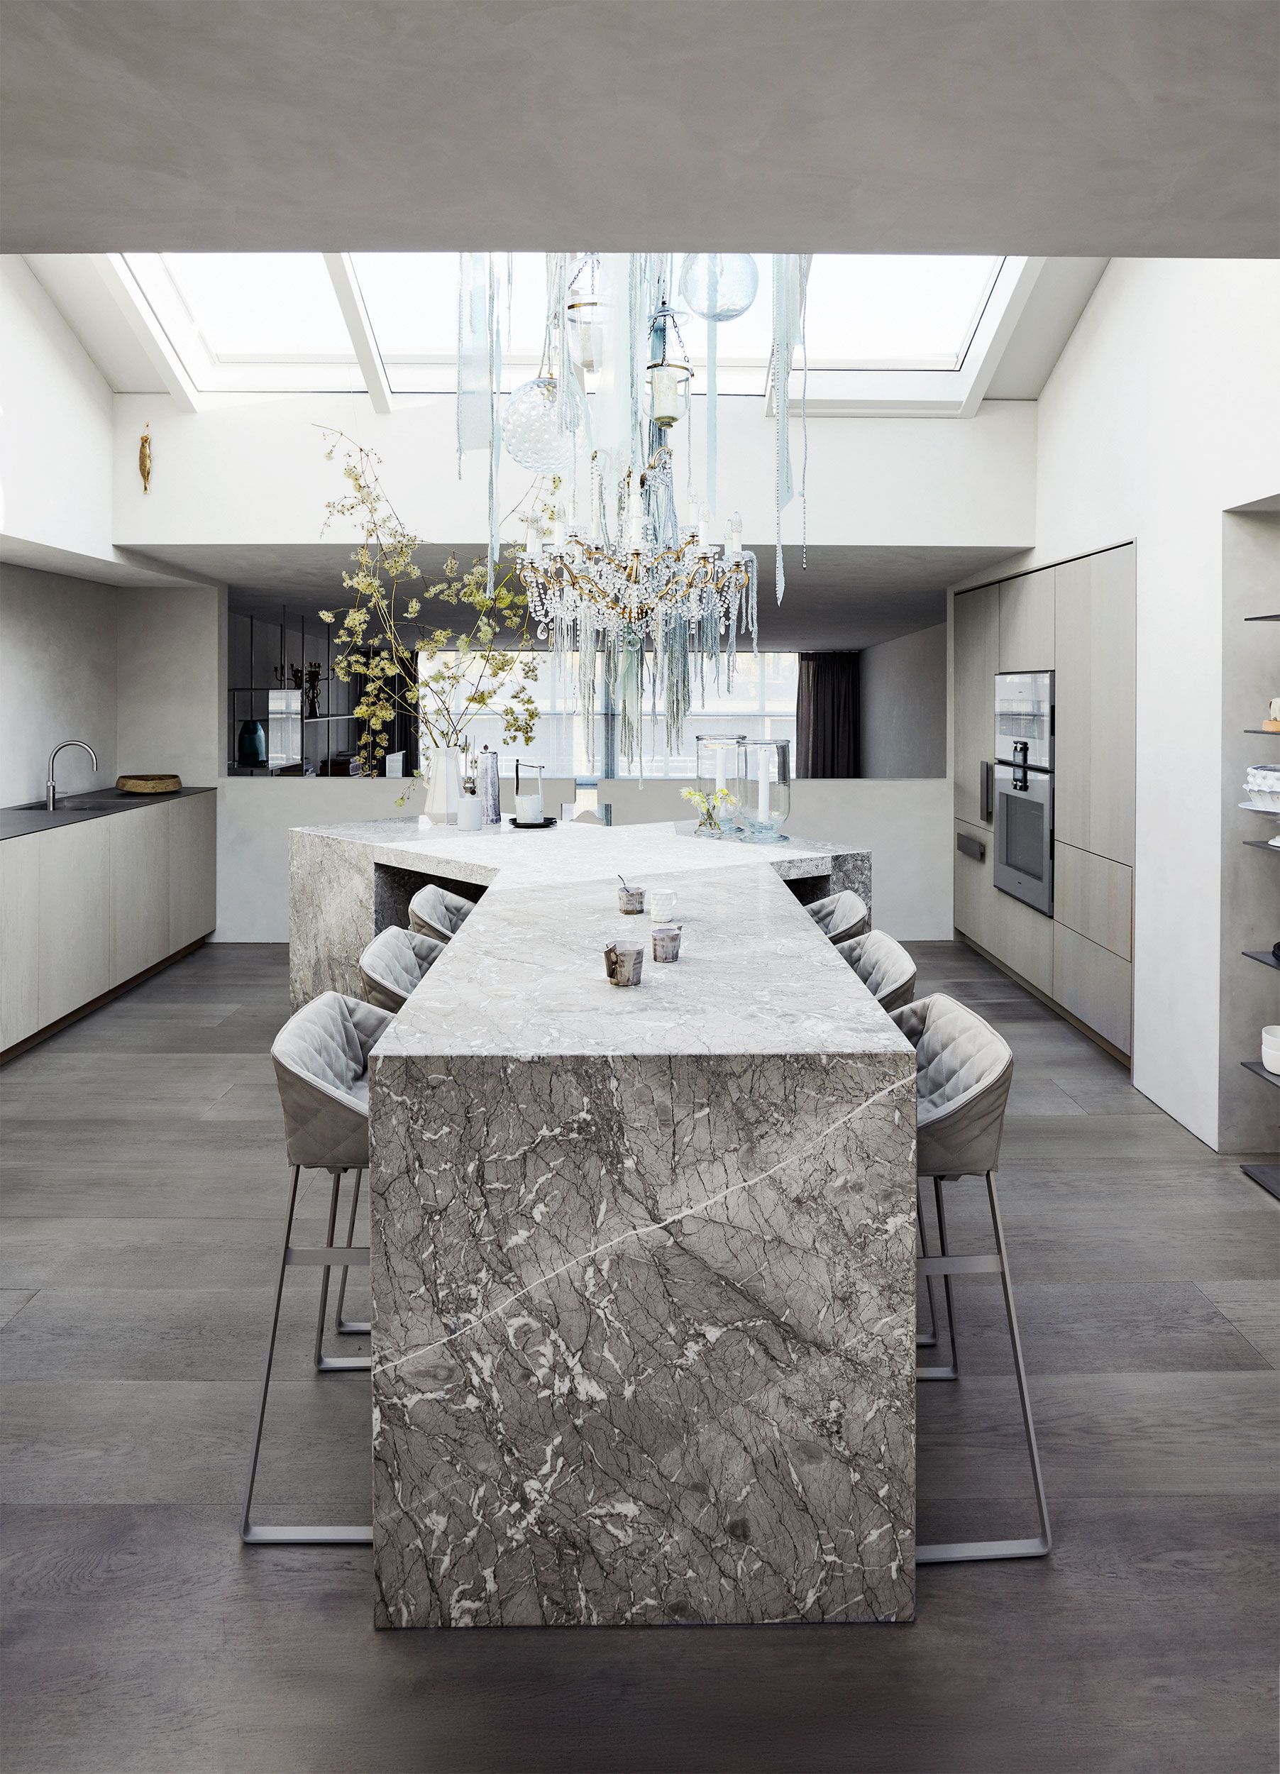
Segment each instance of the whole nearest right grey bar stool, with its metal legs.
[{"label": "whole nearest right grey bar stool, with its metal legs", "polygon": [[[1018,1400],[1023,1412],[1026,1455],[1035,1487],[1035,1508],[1041,1520],[1039,1535],[1028,1540],[970,1540],[917,1547],[917,1563],[947,1565],[959,1559],[1044,1558],[1053,1545],[1053,1536],[1050,1533],[1041,1455],[1035,1446],[1035,1423],[1032,1421],[1032,1401],[1026,1391],[1023,1345],[1018,1336],[1018,1313],[1014,1311],[1005,1233],[1000,1222],[1000,1203],[995,1185],[1005,1103],[1014,1075],[1014,1056],[1009,1043],[996,1034],[991,1024],[975,1017],[972,1009],[957,1004],[956,999],[947,997],[943,992],[917,999],[892,1015],[902,1034],[915,1047],[917,1174],[933,1178],[938,1205],[940,1254],[929,1256],[922,1224],[918,1272],[929,1286],[931,1309],[933,1277],[943,1277],[952,1350],[950,1366],[918,1368],[917,1377],[922,1380],[959,1378],[950,1277],[998,1274],[1005,1300],[1005,1318],[1009,1322],[1014,1373],[1018,1377]],[[947,1249],[947,1217],[943,1213],[941,1185],[954,1183],[961,1176],[986,1178],[991,1229],[996,1242],[995,1256],[956,1256]]]}]

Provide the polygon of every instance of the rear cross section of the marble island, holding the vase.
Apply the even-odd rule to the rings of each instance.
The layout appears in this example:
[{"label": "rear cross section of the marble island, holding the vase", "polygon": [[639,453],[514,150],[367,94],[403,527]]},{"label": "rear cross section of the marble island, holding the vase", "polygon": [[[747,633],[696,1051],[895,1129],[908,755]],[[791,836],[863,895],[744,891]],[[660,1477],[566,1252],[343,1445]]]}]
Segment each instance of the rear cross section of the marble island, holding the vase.
[{"label": "rear cross section of the marble island, holding the vase", "polygon": [[870,853],[810,839],[787,844],[713,843],[654,825],[558,825],[486,832],[420,825],[411,820],[365,820],[349,825],[300,827],[289,843],[289,988],[294,1006],[317,992],[360,993],[356,962],[378,933],[374,873],[402,869],[434,880],[521,896],[535,887],[612,880],[636,885],[658,875],[771,869],[803,891],[853,887],[870,907]]}]

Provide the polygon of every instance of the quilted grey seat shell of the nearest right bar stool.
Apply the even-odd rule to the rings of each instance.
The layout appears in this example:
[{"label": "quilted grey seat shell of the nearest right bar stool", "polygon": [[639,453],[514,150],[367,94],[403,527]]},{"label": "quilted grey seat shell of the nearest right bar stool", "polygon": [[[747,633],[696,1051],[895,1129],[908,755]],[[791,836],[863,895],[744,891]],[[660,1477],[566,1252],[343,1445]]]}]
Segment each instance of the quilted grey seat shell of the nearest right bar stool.
[{"label": "quilted grey seat shell of the nearest right bar stool", "polygon": [[1009,1043],[945,992],[904,1004],[892,1017],[915,1047],[918,1173],[995,1171],[1014,1077]]}]

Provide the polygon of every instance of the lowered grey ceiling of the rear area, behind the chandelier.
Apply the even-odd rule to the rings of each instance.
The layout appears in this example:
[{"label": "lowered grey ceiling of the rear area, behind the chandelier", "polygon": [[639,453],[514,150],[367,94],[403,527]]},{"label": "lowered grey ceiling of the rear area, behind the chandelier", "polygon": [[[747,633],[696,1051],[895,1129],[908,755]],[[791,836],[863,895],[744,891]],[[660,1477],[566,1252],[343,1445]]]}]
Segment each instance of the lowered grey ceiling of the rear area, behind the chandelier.
[{"label": "lowered grey ceiling of the rear area, behind the chandelier", "polygon": [[[459,548],[468,561],[475,550]],[[823,648],[870,648],[879,640],[915,633],[947,619],[945,587],[1009,559],[1007,548],[810,548],[801,568],[800,548],[787,548],[787,591],[773,596],[773,552],[757,546],[761,561],[761,646],[780,653]],[[131,552],[156,571],[177,569],[223,580],[234,603],[245,608],[287,603],[316,608],[344,607],[342,569],[351,548],[344,543],[172,546]],[[424,550],[433,573],[447,548]]]}]

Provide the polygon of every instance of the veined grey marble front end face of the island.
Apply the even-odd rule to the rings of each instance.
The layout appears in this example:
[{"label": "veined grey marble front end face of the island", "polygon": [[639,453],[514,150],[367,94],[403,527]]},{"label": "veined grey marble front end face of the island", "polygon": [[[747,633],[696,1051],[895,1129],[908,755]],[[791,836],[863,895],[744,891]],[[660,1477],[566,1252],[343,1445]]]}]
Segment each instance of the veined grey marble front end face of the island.
[{"label": "veined grey marble front end face of the island", "polygon": [[376,1061],[379,1625],[911,1618],[915,1061],[870,1045]]}]

